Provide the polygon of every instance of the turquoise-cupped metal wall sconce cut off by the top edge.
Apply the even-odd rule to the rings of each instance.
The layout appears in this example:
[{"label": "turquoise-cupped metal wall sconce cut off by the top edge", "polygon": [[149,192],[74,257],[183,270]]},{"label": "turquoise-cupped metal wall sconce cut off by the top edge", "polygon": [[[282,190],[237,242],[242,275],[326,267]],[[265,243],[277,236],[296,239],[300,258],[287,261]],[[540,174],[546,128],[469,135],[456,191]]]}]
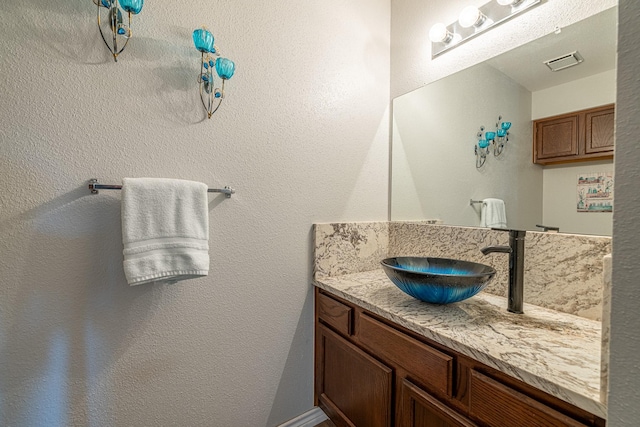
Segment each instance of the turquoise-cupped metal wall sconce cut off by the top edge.
[{"label": "turquoise-cupped metal wall sconce cut off by the top edge", "polygon": [[[143,2],[144,0],[93,0],[93,3],[98,6],[98,29],[102,41],[113,55],[115,62],[118,62],[118,55],[124,51],[133,35],[131,15],[140,13]],[[107,16],[104,25],[101,19],[103,13]],[[127,14],[126,23],[123,18],[124,13]],[[106,28],[103,29],[103,26]],[[110,35],[108,31],[111,31]],[[105,32],[108,36],[105,36]]]}]

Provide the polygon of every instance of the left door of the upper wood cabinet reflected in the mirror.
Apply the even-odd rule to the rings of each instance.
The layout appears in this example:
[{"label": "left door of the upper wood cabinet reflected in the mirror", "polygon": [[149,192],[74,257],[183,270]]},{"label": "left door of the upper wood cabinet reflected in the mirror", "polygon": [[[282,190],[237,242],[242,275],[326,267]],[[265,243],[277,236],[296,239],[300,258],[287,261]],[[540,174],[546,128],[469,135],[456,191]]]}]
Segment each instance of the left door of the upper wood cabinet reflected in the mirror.
[{"label": "left door of the upper wood cabinet reflected in the mirror", "polygon": [[577,156],[579,138],[578,115],[537,120],[534,128],[534,150],[537,160]]}]

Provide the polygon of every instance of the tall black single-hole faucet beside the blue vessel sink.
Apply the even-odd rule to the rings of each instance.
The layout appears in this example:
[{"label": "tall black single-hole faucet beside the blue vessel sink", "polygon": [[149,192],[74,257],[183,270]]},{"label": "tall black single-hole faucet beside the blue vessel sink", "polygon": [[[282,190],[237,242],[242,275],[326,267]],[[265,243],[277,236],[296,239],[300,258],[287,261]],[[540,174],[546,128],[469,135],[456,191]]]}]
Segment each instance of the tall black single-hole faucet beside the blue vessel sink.
[{"label": "tall black single-hole faucet beside the blue vessel sink", "polygon": [[524,230],[509,230],[506,228],[492,228],[492,230],[508,231],[509,246],[487,246],[480,249],[484,254],[503,252],[509,254],[509,294],[507,296],[507,310],[511,313],[522,314],[524,303]]}]

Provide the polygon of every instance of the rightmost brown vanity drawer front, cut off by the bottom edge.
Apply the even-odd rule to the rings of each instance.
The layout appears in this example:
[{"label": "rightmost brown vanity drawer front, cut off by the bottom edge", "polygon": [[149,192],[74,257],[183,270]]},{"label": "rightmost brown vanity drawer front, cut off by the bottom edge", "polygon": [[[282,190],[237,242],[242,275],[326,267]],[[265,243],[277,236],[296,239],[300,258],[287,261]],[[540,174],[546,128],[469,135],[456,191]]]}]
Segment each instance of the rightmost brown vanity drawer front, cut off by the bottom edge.
[{"label": "rightmost brown vanity drawer front, cut off by the bottom edge", "polygon": [[469,415],[492,427],[585,427],[555,409],[471,370]]}]

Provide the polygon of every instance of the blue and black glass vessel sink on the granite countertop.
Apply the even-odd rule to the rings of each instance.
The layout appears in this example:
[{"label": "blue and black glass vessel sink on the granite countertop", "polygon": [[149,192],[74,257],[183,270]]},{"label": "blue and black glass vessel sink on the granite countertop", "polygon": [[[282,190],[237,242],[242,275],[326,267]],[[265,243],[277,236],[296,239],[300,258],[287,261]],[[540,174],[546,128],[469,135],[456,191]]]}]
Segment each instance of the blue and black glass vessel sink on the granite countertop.
[{"label": "blue and black glass vessel sink on the granite countertop", "polygon": [[394,257],[381,261],[389,279],[404,293],[433,304],[470,298],[496,275],[488,265],[429,257]]}]

